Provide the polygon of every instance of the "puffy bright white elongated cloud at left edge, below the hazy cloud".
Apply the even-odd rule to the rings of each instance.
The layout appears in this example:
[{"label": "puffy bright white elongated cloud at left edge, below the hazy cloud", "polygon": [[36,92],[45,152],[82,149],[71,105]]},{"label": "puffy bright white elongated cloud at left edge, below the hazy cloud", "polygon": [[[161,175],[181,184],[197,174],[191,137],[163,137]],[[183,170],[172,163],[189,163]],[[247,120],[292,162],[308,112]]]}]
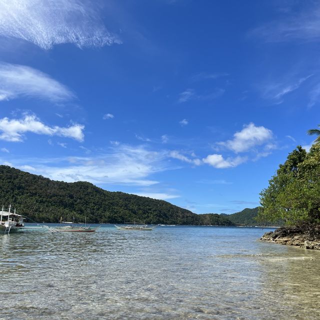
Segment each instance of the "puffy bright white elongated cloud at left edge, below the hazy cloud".
[{"label": "puffy bright white elongated cloud at left edge, below the hazy cloud", "polygon": [[35,115],[24,115],[21,119],[0,119],[0,139],[6,141],[22,141],[23,134],[32,132],[36,134],[57,135],[82,141],[84,125],[74,124],[68,127],[47,126]]}]

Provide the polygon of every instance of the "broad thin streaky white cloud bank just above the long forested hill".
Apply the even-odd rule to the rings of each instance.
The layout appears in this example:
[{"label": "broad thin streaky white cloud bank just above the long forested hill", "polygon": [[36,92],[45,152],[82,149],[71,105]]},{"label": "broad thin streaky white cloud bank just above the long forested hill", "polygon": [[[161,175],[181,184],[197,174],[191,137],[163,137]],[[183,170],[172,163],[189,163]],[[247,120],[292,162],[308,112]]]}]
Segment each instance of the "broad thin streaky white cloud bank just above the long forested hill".
[{"label": "broad thin streaky white cloud bank just above the long forested hill", "polygon": [[148,176],[169,169],[163,162],[165,152],[155,152],[143,146],[120,145],[104,154],[68,158],[16,159],[15,167],[30,165],[32,173],[66,182],[89,181],[94,184],[149,186],[158,181]]}]

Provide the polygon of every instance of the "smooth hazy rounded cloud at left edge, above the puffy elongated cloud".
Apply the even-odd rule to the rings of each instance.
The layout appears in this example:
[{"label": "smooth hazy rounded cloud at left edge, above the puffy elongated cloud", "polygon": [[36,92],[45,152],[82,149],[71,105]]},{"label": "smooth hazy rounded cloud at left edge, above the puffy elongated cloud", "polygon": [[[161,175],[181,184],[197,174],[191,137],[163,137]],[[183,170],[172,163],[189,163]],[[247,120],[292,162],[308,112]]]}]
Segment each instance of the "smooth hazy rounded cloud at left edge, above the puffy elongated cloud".
[{"label": "smooth hazy rounded cloud at left edge, above the puffy elongated cloud", "polygon": [[39,70],[25,65],[0,63],[0,100],[19,96],[56,102],[74,97],[66,86]]}]

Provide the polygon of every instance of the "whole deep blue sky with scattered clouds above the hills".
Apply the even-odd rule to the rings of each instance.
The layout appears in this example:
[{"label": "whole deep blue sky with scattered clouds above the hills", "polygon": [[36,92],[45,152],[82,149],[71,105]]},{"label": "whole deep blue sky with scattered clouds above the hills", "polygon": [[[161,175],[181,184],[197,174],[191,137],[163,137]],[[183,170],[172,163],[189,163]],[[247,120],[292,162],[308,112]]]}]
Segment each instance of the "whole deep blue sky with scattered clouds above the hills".
[{"label": "whole deep blue sky with scattered clouds above the hills", "polygon": [[320,123],[319,40],[318,1],[0,0],[0,163],[257,206]]}]

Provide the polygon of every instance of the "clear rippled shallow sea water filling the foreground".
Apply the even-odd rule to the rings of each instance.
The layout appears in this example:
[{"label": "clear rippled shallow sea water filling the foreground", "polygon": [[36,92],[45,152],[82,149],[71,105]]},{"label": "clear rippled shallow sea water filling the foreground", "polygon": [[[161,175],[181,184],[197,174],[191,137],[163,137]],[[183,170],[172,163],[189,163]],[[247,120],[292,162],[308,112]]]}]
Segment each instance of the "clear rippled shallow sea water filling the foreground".
[{"label": "clear rippled shallow sea water filling the foreground", "polygon": [[320,319],[320,252],[265,231],[0,235],[0,319]]}]

